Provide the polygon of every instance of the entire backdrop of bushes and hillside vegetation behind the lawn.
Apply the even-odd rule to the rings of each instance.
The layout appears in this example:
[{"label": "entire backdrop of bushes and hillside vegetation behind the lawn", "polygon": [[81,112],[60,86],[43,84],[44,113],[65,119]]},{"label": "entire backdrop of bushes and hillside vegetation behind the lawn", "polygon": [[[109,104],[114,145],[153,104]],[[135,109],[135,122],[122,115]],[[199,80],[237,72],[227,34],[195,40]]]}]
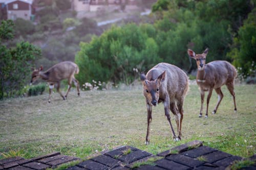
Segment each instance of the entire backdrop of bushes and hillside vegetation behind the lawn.
[{"label": "entire backdrop of bushes and hillside vegetation behind the lawn", "polygon": [[[151,14],[125,18],[115,25],[99,27],[93,18],[77,18],[69,0],[38,1],[41,10],[36,12],[36,23],[21,18],[2,21],[0,96],[24,89],[29,66],[49,68],[65,60],[78,64],[81,85],[93,80],[130,84],[159,62],[191,74],[196,63],[187,56],[187,48],[202,53],[208,47],[207,62],[227,60],[241,78],[255,77],[256,0],[138,1],[140,8],[151,8]],[[14,53],[23,57],[14,59]],[[3,76],[3,68],[13,71]],[[19,70],[24,68],[25,72]],[[13,72],[23,72],[23,78],[7,80]],[[8,86],[12,90],[3,88],[14,79],[23,83]]]}]

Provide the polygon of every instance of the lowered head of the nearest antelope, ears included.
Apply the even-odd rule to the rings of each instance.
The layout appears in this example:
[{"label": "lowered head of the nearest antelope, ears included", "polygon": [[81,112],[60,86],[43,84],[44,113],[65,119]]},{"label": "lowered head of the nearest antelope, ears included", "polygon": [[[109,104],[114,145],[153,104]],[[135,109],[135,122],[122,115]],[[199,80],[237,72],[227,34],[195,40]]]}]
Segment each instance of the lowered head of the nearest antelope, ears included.
[{"label": "lowered head of the nearest antelope, ears included", "polygon": [[165,79],[165,73],[166,71],[164,70],[156,80],[150,81],[150,80],[147,80],[144,72],[141,72],[140,80],[143,85],[143,94],[146,98],[147,104],[152,104],[153,106],[157,106],[157,103],[159,100],[160,86]]}]

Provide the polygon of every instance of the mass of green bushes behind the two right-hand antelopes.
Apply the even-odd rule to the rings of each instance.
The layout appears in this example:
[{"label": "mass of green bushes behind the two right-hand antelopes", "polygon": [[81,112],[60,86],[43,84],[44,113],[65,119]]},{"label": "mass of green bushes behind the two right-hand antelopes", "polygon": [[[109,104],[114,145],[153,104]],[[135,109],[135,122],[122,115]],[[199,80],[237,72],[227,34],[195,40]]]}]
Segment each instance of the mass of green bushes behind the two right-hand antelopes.
[{"label": "mass of green bushes behind the two right-hand antelopes", "polygon": [[[84,81],[133,81],[134,69],[147,71],[167,62],[190,73],[196,63],[187,48],[202,53],[207,62],[227,60],[255,76],[255,1],[167,1],[152,6],[154,23],[113,26],[91,42],[80,43],[75,62]],[[241,69],[239,69],[241,70]]]}]

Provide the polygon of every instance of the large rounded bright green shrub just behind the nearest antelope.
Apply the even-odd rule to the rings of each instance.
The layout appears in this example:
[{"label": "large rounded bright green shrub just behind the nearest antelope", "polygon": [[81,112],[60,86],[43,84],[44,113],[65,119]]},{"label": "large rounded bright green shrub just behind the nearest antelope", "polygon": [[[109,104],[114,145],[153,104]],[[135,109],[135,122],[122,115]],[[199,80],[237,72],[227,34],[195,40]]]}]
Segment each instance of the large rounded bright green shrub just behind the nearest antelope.
[{"label": "large rounded bright green shrub just behind the nearest antelope", "polygon": [[130,84],[134,81],[134,68],[145,71],[162,61],[158,44],[144,31],[134,23],[113,26],[90,43],[80,43],[81,51],[75,57],[80,68],[79,82]]}]

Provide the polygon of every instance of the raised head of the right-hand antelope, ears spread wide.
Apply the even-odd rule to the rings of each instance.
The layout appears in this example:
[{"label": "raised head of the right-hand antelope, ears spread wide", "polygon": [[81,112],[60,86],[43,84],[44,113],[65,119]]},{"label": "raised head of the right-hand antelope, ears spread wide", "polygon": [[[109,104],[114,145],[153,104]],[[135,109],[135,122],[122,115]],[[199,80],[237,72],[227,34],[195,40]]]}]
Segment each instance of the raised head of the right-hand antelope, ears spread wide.
[{"label": "raised head of the right-hand antelope, ears spread wide", "polygon": [[187,54],[197,61],[198,70],[203,70],[205,66],[205,59],[208,54],[208,48],[205,49],[204,53],[196,54],[193,50],[188,49]]}]

